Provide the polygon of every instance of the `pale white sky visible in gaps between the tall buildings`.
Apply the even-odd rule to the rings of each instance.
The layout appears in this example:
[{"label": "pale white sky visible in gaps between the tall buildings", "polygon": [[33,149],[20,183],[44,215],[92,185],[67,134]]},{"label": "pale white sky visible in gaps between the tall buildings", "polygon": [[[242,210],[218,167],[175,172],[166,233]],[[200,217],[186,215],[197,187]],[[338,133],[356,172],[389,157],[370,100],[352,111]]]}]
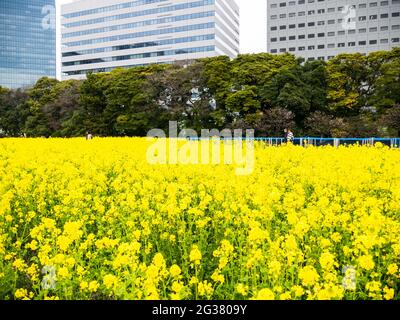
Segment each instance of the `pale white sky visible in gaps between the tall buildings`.
[{"label": "pale white sky visible in gaps between the tall buildings", "polygon": [[[72,0],[56,0],[57,12],[60,5]],[[266,51],[266,0],[236,0],[240,6],[240,53],[259,53]],[[60,19],[58,19],[60,21]],[[60,30],[60,28],[58,28]],[[60,32],[60,31],[59,31]],[[60,48],[60,36],[57,48]],[[57,54],[57,70],[60,70],[60,54]],[[58,78],[60,74],[58,74]]]}]

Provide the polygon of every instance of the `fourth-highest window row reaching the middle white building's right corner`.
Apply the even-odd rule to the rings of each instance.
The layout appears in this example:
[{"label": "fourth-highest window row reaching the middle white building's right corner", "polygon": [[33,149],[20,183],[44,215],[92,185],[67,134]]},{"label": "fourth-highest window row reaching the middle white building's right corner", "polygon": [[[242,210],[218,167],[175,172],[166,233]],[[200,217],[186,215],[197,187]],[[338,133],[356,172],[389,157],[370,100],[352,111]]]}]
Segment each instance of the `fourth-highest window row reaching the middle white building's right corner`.
[{"label": "fourth-highest window row reaching the middle white building's right corner", "polygon": [[207,40],[214,40],[214,39],[215,39],[214,34],[207,34],[207,35],[201,35],[201,36],[192,36],[192,37],[183,37],[183,38],[175,38],[175,39],[140,42],[140,43],[135,43],[135,44],[124,44],[124,45],[106,47],[106,48],[96,48],[96,49],[89,49],[89,50],[64,52],[62,54],[62,56],[63,57],[73,57],[73,56],[79,56],[79,55],[85,55],[85,54],[96,54],[96,53],[102,53],[102,52],[131,50],[131,49],[138,49],[138,48],[173,45],[173,44],[186,43],[186,42],[207,41]]}]

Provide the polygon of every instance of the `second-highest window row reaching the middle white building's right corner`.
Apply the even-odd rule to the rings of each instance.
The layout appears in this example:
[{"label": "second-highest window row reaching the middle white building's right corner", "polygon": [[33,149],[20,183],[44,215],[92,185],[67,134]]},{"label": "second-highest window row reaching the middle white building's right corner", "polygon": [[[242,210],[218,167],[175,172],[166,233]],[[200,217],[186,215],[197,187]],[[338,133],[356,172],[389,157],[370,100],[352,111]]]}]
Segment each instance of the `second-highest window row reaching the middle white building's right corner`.
[{"label": "second-highest window row reaching the middle white building's right corner", "polygon": [[120,25],[111,26],[111,27],[70,32],[70,33],[63,34],[62,37],[63,38],[71,38],[71,37],[84,36],[84,35],[94,34],[94,33],[110,32],[110,31],[123,30],[123,29],[134,29],[134,28],[151,26],[151,25],[162,24],[162,23],[172,23],[172,22],[177,22],[177,21],[201,19],[201,18],[213,17],[213,16],[215,16],[215,11],[184,14],[184,15],[175,16],[175,17],[150,19],[150,20],[139,21],[139,22],[134,22],[134,23],[120,24]]}]

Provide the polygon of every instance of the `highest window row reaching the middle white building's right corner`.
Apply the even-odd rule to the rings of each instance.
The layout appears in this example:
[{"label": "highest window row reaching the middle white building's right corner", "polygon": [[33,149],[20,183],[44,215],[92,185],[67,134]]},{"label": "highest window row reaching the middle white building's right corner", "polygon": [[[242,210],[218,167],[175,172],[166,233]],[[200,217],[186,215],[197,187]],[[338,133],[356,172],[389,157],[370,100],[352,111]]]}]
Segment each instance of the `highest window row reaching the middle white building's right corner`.
[{"label": "highest window row reaching the middle white building's right corner", "polygon": [[64,27],[73,28],[73,27],[79,27],[79,26],[95,24],[95,23],[103,23],[103,22],[108,22],[108,21],[135,18],[135,17],[147,16],[147,15],[152,15],[152,14],[161,14],[161,13],[171,12],[171,11],[178,11],[178,10],[185,10],[185,9],[189,9],[189,8],[209,6],[209,5],[213,5],[214,2],[215,2],[214,0],[202,0],[202,1],[196,1],[196,2],[182,3],[182,4],[167,6],[167,7],[160,7],[160,8],[147,9],[147,10],[136,11],[136,12],[118,14],[115,16],[66,23],[66,24],[64,24]]}]

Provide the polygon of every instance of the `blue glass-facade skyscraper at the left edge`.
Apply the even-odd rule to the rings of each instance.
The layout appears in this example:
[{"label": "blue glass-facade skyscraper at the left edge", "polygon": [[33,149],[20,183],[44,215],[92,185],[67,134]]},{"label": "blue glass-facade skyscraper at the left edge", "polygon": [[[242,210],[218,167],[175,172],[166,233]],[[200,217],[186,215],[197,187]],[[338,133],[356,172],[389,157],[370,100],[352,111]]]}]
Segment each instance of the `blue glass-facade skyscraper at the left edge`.
[{"label": "blue glass-facade skyscraper at the left edge", "polygon": [[56,77],[55,0],[0,1],[0,86]]}]

